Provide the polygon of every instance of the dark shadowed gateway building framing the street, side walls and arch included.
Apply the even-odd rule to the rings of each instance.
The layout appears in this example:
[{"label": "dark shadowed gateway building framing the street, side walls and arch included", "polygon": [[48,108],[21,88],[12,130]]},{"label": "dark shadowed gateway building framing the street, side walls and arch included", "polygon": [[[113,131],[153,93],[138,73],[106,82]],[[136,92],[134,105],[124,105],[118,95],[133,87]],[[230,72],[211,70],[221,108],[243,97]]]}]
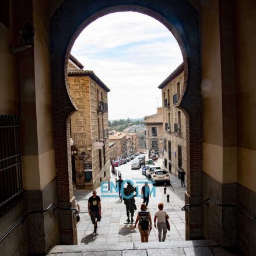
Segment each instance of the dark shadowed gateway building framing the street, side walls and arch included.
[{"label": "dark shadowed gateway building framing the street, side walls and arch included", "polygon": [[[65,71],[87,24],[124,10],[165,24],[183,54],[177,107],[190,136],[186,239],[255,255],[255,0],[22,0],[0,1],[0,10],[3,255],[44,255],[77,243],[69,132],[76,106]],[[219,204],[202,204],[209,197]]]}]

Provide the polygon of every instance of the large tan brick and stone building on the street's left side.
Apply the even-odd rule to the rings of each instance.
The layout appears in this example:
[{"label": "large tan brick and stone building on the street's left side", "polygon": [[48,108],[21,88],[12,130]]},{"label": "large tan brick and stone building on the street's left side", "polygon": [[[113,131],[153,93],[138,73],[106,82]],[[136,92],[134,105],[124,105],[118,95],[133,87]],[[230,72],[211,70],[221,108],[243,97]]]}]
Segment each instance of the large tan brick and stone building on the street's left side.
[{"label": "large tan brick and stone building on the street's left side", "polygon": [[[108,103],[110,89],[70,55],[69,90],[78,111],[71,116],[72,171],[76,187],[97,188],[110,178]],[[74,153],[75,152],[75,153]]]}]

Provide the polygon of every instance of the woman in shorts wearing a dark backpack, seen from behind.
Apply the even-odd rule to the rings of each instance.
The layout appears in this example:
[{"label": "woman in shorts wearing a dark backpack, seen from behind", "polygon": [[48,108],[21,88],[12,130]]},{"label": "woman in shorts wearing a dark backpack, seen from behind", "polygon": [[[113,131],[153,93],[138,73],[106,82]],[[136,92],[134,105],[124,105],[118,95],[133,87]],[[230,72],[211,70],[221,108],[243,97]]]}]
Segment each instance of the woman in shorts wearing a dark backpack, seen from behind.
[{"label": "woman in shorts wearing a dark backpack, seen from behind", "polygon": [[152,219],[150,212],[147,211],[146,204],[141,204],[141,211],[138,212],[134,229],[139,222],[139,233],[141,234],[141,243],[148,243],[149,231],[152,230]]}]

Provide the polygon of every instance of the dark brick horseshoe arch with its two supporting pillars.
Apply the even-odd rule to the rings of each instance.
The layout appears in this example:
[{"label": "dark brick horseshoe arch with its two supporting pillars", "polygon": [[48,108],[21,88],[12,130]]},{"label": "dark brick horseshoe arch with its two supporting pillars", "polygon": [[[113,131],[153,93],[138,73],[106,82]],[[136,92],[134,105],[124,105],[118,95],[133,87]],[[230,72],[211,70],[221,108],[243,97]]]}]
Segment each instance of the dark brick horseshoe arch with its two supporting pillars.
[{"label": "dark brick horseshoe arch with its two supporting pillars", "polygon": [[[76,108],[69,96],[65,77],[68,54],[80,32],[93,20],[109,13],[128,10],[144,13],[162,22],[180,45],[187,86],[179,107],[188,117],[187,138],[190,143],[190,152],[187,156],[190,171],[187,173],[186,203],[201,202],[202,104],[197,10],[188,0],[65,0],[51,17],[54,148],[60,206],[75,206],[68,120]],[[60,212],[60,227],[61,243],[75,244],[76,225],[71,212]],[[200,237],[202,237],[201,207],[192,208],[186,213],[186,239]]]}]

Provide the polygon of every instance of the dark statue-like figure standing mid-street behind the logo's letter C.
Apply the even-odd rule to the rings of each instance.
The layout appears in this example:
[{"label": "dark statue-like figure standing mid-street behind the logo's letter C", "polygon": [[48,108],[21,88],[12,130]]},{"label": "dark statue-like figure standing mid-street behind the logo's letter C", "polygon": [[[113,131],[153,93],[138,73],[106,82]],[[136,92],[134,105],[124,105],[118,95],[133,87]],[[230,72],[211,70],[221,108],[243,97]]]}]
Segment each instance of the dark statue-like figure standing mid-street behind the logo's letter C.
[{"label": "dark statue-like figure standing mid-street behind the logo's letter C", "polygon": [[[134,222],[134,212],[136,211],[135,205],[135,198],[136,188],[131,185],[131,183],[127,182],[127,187],[124,188],[124,204],[126,206],[126,215],[127,215],[127,222]],[[129,217],[129,213],[131,213],[131,220]]]}]

